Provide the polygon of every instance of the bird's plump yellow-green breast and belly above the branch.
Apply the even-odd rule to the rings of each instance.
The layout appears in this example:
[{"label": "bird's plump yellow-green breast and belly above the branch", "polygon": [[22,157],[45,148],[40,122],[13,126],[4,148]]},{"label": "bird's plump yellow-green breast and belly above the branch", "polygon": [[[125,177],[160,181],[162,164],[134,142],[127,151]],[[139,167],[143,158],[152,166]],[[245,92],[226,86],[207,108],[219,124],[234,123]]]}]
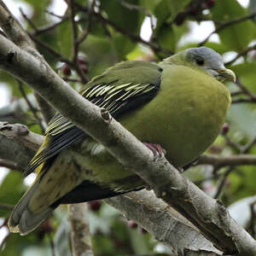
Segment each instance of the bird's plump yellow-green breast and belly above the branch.
[{"label": "bird's plump yellow-green breast and belly above the branch", "polygon": [[177,84],[161,90],[166,95],[132,113],[132,122],[128,115],[121,121],[141,141],[159,143],[175,166],[189,164],[214,142],[230,104],[224,84],[216,83],[211,90],[205,84],[185,84],[189,87]]}]

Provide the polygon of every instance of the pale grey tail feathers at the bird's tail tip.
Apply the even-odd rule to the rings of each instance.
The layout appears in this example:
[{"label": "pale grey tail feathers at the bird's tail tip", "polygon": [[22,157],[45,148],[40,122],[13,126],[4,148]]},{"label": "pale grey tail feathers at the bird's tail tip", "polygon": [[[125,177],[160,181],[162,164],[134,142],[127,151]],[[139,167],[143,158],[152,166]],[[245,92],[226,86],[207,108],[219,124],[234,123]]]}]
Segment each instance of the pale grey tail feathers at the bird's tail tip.
[{"label": "pale grey tail feathers at the bird's tail tip", "polygon": [[55,210],[55,207],[47,207],[43,212],[33,213],[29,209],[29,202],[34,191],[38,188],[39,180],[36,180],[26,191],[26,194],[21,197],[11,213],[8,222],[10,232],[20,232],[20,235],[26,235],[36,229]]}]

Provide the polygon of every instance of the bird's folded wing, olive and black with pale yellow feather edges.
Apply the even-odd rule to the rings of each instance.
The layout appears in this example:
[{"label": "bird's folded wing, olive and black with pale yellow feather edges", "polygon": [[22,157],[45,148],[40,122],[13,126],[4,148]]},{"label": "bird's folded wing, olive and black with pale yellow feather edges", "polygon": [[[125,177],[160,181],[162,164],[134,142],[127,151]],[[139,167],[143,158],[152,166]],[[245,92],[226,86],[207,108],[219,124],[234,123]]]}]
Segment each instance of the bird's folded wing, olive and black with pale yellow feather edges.
[{"label": "bird's folded wing, olive and black with pale yellow feather edges", "polygon": [[[159,66],[146,61],[120,62],[92,79],[79,93],[119,119],[123,113],[142,106],[156,96],[160,90],[161,71]],[[86,135],[60,113],[50,120],[45,133],[44,143],[27,167],[25,175],[35,170],[40,172],[48,160]]]}]

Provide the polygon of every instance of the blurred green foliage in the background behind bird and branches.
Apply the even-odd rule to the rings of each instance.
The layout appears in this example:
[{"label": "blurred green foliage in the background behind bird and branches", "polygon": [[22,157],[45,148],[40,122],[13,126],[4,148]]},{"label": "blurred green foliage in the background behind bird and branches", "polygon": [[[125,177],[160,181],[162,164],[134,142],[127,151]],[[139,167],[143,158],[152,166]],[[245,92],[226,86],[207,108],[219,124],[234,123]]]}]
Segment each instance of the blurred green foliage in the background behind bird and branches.
[{"label": "blurred green foliage in the background behind bird and branches", "polygon": [[[40,53],[57,73],[67,80],[70,79],[70,84],[75,89],[79,89],[82,85],[79,82],[79,74],[75,72],[73,66],[65,64],[65,60],[73,61],[74,53],[73,24],[69,18],[70,8],[67,8],[61,18],[57,18],[46,12],[52,1],[16,0],[15,2],[17,8],[18,3],[23,2],[32,9],[28,17],[30,22],[26,19],[20,22],[32,34],[32,37],[41,42],[37,44]],[[60,8],[63,5],[66,6],[64,1],[55,2],[58,2],[57,9],[58,6]],[[212,42],[209,38],[205,45],[217,50],[221,55],[229,56],[229,61],[235,57],[234,52],[236,55],[241,53],[242,57],[232,63],[230,68],[236,72],[241,83],[252,94],[256,93],[256,47],[247,51],[255,44],[256,25],[252,19],[239,22],[239,19],[254,12],[253,6],[256,6],[254,0],[250,1],[251,9],[242,7],[236,0],[98,0],[93,9],[91,9],[93,3],[91,0],[74,0],[73,2],[76,3],[74,6],[77,34],[79,38],[84,37],[84,41],[79,44],[79,60],[80,64],[82,63],[81,67],[85,67],[84,74],[88,79],[102,73],[118,61],[127,59],[159,61],[161,57],[166,57],[172,52],[196,47],[201,43],[196,38],[197,30],[193,31],[192,39],[187,37],[187,40],[183,40],[183,38],[191,32],[195,24],[200,25],[201,22],[207,21],[211,22],[215,28],[223,27],[217,32],[218,42]],[[23,11],[26,14],[26,9]],[[56,9],[51,9],[51,11],[55,12]],[[93,12],[95,13],[92,14]],[[146,40],[148,43],[141,40],[140,36],[145,19],[151,20],[151,24],[147,21],[147,25],[153,29],[150,40]],[[230,23],[232,20],[236,22]],[[40,32],[45,27],[58,22],[60,22],[58,26]],[[37,30],[34,27],[37,27]],[[150,28],[148,28],[148,33],[150,33]],[[206,31],[205,38],[210,33],[211,31]],[[70,68],[70,76],[62,72],[61,67],[64,64]],[[17,81],[13,77],[0,71],[0,80],[8,84],[12,91],[13,101],[21,97]],[[229,86],[232,91],[241,90],[235,84],[229,84]],[[27,94],[31,92],[30,89],[26,89]],[[241,90],[241,94],[234,96],[234,100],[240,98],[250,97]],[[35,126],[37,120],[33,119],[31,111],[29,111],[29,116],[30,119],[25,122],[26,125],[33,125],[32,129],[40,132],[39,126]],[[230,140],[245,145],[256,136],[255,104],[234,104],[230,108],[227,121],[230,124],[228,133]],[[208,151],[222,155],[238,153],[236,148],[229,147],[221,136],[218,137],[214,147]],[[247,154],[255,154],[255,151],[256,147],[253,146]],[[227,167],[224,167],[218,172],[223,173],[226,169]],[[231,172],[221,197],[226,205],[243,197],[255,195],[255,169],[255,166],[240,166]],[[187,175],[196,182],[211,176],[211,171],[211,168],[196,166]],[[217,186],[218,180],[212,180],[213,192]],[[1,218],[4,219],[9,214],[9,210],[1,208],[1,204],[15,204],[25,190],[26,186],[20,172],[10,171],[3,178],[0,184]],[[48,223],[29,236],[21,237],[13,234],[8,236],[0,250],[0,255],[30,256],[35,255],[35,252],[37,255],[53,255],[49,243],[51,239],[55,243],[56,256],[63,255],[63,252],[71,255],[68,221],[64,212],[62,208],[58,210]],[[140,228],[131,229],[125,218],[106,204],[103,204],[98,212],[90,212],[90,225],[96,256],[138,253],[157,255],[154,248],[159,243],[149,234],[143,234]],[[166,253],[172,255],[171,251],[166,250]]]}]

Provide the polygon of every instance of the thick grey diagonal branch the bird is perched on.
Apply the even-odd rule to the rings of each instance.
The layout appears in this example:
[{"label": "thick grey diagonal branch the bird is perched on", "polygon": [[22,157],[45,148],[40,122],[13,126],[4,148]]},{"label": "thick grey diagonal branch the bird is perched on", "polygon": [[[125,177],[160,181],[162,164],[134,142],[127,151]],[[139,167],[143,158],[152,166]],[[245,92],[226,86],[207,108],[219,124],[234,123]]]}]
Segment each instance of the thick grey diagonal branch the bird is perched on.
[{"label": "thick grey diagonal branch the bird is perched on", "polygon": [[126,168],[143,177],[158,196],[195,224],[220,250],[256,254],[256,242],[230,218],[223,205],[189,182],[165,159],[155,161],[143,143],[114,119],[103,119],[100,109],[79,96],[46,62],[1,35],[0,65],[30,84],[60,113],[108,148]]}]

